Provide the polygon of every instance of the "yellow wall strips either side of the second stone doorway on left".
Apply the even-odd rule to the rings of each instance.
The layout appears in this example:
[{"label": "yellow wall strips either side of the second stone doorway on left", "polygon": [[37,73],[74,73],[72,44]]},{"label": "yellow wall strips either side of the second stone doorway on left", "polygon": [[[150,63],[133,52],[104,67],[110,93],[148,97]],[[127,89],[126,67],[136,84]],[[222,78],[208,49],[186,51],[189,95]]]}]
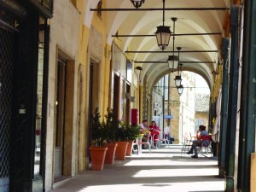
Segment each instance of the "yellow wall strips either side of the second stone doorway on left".
[{"label": "yellow wall strips either side of the second stone doorway on left", "polygon": [[[104,4],[106,1],[103,1],[102,8],[104,8]],[[90,66],[90,58],[88,55],[88,46],[89,46],[89,39],[90,39],[90,27],[84,25],[84,7],[87,5],[87,1],[78,0],[76,2],[77,9],[79,9],[81,16],[80,16],[80,34],[79,34],[79,63],[84,65],[84,113],[83,113],[83,127],[82,127],[82,151],[83,151],[83,160],[82,167],[83,170],[86,168],[88,164],[86,160],[87,148],[86,146],[87,138],[86,130],[88,128],[88,112],[89,112],[89,66]],[[96,13],[93,14],[93,18],[91,20],[91,26],[96,28],[98,32],[102,34],[102,65],[100,65],[100,74],[99,74],[99,81],[100,81],[100,103],[99,109],[102,117],[104,114],[107,113],[108,108],[108,96],[109,96],[109,73],[110,73],[110,50],[111,46],[107,44],[106,39],[106,25],[107,25],[107,12],[102,12],[102,19],[100,19]],[[106,54],[107,53],[107,54]]]}]

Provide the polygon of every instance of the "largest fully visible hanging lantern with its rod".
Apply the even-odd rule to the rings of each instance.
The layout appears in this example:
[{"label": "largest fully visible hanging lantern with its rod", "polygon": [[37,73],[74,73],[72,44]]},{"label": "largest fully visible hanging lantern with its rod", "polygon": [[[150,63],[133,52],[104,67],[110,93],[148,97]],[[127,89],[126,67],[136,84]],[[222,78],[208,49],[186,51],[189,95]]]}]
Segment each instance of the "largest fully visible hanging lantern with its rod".
[{"label": "largest fully visible hanging lantern with its rod", "polygon": [[155,32],[157,44],[162,50],[166,49],[166,47],[169,45],[171,37],[171,26],[165,26],[165,3],[166,0],[163,0],[163,25],[157,26],[157,30]]}]

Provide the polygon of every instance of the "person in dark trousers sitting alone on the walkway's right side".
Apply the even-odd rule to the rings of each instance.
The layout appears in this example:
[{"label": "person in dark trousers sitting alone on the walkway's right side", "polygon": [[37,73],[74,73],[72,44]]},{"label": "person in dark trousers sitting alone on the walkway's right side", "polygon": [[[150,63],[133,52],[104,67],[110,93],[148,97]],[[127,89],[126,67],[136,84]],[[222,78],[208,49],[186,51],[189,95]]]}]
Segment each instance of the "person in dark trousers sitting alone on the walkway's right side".
[{"label": "person in dark trousers sitting alone on the walkway's right side", "polygon": [[200,125],[199,130],[196,132],[196,140],[193,141],[193,144],[187,154],[193,154],[193,150],[195,151],[195,155],[191,156],[192,158],[198,158],[197,146],[208,146],[210,141],[202,140],[202,137],[209,136],[209,133],[206,131],[206,126]]}]

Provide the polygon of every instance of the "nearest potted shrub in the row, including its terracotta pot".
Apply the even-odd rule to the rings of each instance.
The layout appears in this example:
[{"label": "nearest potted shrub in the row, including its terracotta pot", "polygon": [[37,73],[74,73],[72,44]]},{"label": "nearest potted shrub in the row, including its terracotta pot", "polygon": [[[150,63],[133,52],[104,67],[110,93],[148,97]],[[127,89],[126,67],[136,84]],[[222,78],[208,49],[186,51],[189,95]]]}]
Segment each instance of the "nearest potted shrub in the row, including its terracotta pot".
[{"label": "nearest potted shrub in the row, including its terracotta pot", "polygon": [[106,138],[106,130],[103,128],[100,119],[101,115],[98,108],[96,108],[94,117],[92,117],[90,131],[92,143],[92,147],[90,147],[90,158],[92,170],[95,171],[101,171],[103,169],[106,152],[108,150],[108,147],[103,147]]}]

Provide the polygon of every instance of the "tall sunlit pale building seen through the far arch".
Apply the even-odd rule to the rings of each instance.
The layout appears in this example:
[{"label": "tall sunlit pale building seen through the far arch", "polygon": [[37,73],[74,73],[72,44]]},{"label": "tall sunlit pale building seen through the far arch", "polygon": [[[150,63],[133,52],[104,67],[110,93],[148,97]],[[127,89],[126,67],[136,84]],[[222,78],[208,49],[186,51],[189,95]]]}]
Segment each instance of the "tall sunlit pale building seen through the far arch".
[{"label": "tall sunlit pale building seen through the far arch", "polygon": [[[170,132],[175,138],[175,143],[182,143],[184,135],[193,134],[195,131],[195,73],[183,72],[182,84],[183,94],[181,96],[177,93],[174,80],[177,73],[170,74],[170,93],[168,104],[168,84],[165,84],[164,98],[165,98],[165,115],[169,113],[172,119],[164,119],[164,127],[170,124]],[[167,75],[166,75],[167,77]],[[167,78],[166,78],[167,79]],[[168,80],[164,81],[165,83]],[[160,87],[160,86],[158,86]]]}]

